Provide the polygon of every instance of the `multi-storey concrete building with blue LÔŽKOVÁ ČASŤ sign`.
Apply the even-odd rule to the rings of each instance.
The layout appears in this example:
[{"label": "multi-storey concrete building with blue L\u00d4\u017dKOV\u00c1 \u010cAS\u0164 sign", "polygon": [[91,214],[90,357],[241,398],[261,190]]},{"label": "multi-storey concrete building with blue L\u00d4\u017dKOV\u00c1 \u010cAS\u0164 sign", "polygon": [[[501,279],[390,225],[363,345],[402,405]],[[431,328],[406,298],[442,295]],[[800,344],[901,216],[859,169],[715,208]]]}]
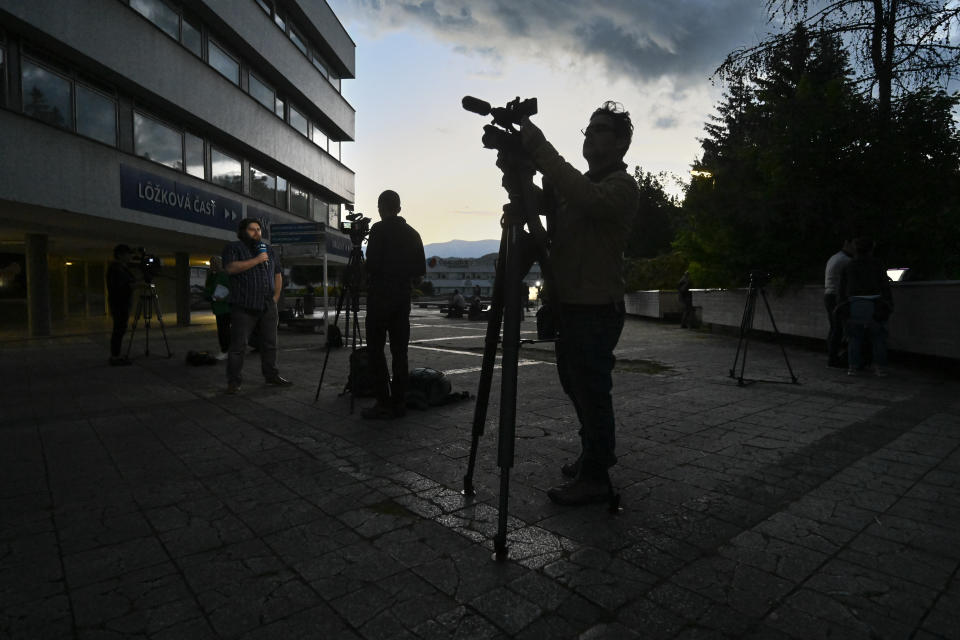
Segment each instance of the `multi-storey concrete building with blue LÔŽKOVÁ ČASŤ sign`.
[{"label": "multi-storey concrete building with blue L\u00d4\u017dKOV\u00c1 \u010cAS\u0164 sign", "polygon": [[324,0],[0,0],[0,323],[105,315],[118,243],[163,260],[188,323],[243,217],[311,223],[301,255],[345,263],[354,49]]}]

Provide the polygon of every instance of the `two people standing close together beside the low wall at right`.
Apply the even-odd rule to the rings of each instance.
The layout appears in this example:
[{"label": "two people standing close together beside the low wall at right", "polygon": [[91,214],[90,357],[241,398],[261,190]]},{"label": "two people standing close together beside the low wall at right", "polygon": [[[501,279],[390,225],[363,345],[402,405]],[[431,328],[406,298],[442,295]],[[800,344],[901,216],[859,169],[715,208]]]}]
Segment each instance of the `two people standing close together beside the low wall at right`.
[{"label": "two people standing close together beside the low wall at right", "polygon": [[850,376],[886,375],[887,320],[893,312],[893,296],[890,279],[873,250],[870,238],[845,240],[825,269],[824,306],[830,322],[827,366],[846,368]]}]

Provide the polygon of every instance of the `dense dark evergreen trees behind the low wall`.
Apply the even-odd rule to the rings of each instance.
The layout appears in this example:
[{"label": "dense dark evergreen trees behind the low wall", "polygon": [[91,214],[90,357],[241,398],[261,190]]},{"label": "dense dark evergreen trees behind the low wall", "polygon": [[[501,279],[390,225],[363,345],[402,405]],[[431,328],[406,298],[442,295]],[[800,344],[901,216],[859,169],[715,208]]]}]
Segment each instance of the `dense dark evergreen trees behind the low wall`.
[{"label": "dense dark evergreen trees behind the low wall", "polygon": [[795,27],[762,66],[731,76],[706,126],[696,168],[709,175],[687,190],[677,243],[694,279],[742,284],[759,268],[817,282],[852,235],[877,238],[891,266],[946,275],[960,239],[956,104],[906,94],[881,140],[878,102],[858,89],[841,37]]}]

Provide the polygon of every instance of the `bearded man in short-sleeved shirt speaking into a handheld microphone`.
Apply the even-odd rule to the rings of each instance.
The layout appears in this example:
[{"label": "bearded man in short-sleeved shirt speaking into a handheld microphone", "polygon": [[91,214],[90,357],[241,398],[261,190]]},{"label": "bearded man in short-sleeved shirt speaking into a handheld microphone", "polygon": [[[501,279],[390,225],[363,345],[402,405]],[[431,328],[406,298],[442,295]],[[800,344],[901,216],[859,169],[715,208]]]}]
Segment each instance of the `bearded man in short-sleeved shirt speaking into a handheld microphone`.
[{"label": "bearded man in short-sleeved shirt speaking into a handheld microphone", "polygon": [[244,218],[237,228],[238,240],[223,249],[223,270],[230,275],[229,394],[240,392],[243,355],[255,330],[260,333],[260,370],[267,384],[292,384],[277,369],[277,302],[283,292],[283,273],[262,233],[259,220]]}]

